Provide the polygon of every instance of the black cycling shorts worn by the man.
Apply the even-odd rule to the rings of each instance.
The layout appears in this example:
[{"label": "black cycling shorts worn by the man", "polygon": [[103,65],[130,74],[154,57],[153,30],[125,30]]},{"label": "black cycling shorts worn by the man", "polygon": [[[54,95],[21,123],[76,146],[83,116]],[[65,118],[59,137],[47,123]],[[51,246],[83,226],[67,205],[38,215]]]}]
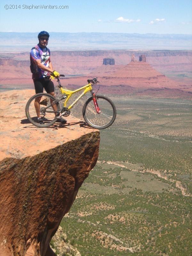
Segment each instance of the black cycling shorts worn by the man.
[{"label": "black cycling shorts worn by the man", "polygon": [[54,84],[53,82],[49,79],[48,76],[43,77],[43,78],[37,78],[33,80],[34,85],[35,85],[35,92],[43,92],[43,88],[47,93],[54,92]]}]

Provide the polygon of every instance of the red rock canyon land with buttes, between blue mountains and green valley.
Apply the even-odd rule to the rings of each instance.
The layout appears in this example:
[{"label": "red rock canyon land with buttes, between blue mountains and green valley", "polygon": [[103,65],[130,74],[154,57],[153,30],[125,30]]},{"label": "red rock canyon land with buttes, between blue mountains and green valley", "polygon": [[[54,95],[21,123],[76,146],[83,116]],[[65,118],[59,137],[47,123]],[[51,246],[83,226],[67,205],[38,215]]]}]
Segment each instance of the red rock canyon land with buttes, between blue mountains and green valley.
[{"label": "red rock canyon land with buttes, between blue mountains and green valley", "polygon": [[[135,61],[131,61],[132,54]],[[139,61],[141,55],[146,61]],[[51,60],[53,67],[65,74],[62,85],[67,88],[98,77],[103,93],[190,98],[192,92],[192,51],[52,51]],[[1,89],[12,85],[33,88],[28,52],[0,54],[0,68]]]}]

